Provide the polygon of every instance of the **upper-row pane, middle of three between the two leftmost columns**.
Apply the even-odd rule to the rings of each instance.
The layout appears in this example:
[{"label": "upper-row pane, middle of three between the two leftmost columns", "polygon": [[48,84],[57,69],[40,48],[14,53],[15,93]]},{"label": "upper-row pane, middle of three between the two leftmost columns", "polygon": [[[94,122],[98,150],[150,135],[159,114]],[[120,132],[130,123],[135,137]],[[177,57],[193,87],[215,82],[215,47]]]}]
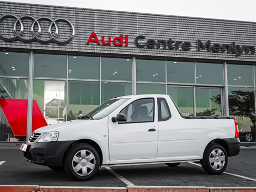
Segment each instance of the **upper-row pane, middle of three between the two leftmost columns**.
[{"label": "upper-row pane, middle of three between the two leftmost columns", "polygon": [[99,79],[99,57],[69,56],[69,78]]}]

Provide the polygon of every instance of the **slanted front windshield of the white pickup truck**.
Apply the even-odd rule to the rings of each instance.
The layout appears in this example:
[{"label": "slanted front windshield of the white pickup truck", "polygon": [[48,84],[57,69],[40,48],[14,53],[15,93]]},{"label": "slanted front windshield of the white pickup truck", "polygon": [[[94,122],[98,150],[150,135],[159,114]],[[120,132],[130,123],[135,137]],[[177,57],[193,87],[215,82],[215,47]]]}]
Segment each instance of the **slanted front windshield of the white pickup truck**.
[{"label": "slanted front windshield of the white pickup truck", "polygon": [[97,106],[97,108],[87,113],[86,116],[92,117],[93,119],[102,119],[108,116],[111,112],[117,109],[121,104],[126,102],[128,99],[129,98],[111,99],[109,101],[106,101],[103,104]]}]

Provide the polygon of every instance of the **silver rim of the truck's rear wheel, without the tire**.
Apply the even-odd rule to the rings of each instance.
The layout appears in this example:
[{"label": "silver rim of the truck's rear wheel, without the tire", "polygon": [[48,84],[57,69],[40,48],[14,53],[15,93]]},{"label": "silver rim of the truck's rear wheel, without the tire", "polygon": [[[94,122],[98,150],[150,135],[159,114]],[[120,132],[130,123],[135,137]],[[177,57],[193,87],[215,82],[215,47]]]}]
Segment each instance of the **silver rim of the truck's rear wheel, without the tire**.
[{"label": "silver rim of the truck's rear wheel, without the tire", "polygon": [[221,170],[225,165],[225,154],[219,148],[212,150],[209,156],[210,166],[215,170]]}]

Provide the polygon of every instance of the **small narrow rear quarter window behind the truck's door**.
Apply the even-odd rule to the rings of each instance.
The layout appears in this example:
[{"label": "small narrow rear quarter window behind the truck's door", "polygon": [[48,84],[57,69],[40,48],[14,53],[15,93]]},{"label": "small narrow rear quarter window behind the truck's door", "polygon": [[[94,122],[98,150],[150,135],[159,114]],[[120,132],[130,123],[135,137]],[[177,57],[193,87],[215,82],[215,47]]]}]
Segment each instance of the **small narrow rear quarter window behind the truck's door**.
[{"label": "small narrow rear quarter window behind the truck's door", "polygon": [[169,106],[164,98],[157,98],[158,102],[158,121],[168,120],[170,115]]}]

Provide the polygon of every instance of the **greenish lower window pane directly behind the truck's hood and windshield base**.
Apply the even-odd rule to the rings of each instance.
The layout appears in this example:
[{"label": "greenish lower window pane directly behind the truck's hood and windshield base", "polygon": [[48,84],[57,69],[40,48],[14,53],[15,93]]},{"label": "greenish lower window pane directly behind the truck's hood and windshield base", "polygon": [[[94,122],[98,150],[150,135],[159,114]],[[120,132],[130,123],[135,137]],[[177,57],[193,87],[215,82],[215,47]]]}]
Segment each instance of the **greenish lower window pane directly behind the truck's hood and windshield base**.
[{"label": "greenish lower window pane directly behind the truck's hood and windshield base", "polygon": [[87,114],[99,104],[99,82],[69,81],[68,114],[72,111],[77,119],[79,114]]}]

